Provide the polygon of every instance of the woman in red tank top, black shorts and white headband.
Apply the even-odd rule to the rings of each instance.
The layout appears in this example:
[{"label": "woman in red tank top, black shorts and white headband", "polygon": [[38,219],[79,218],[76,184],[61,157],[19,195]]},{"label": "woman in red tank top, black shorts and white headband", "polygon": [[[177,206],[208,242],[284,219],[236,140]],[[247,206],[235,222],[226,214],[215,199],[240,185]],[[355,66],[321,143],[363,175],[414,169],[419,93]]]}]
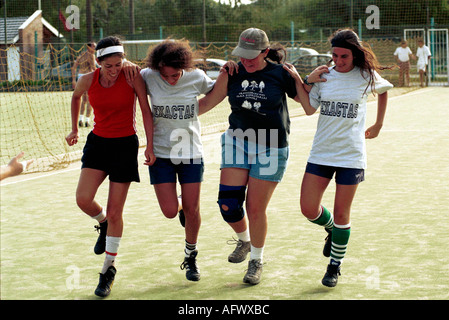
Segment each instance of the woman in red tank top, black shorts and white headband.
[{"label": "woman in red tank top, black shorts and white headband", "polygon": [[[131,82],[126,80],[124,51],[118,38],[100,40],[96,51],[101,68],[82,76],[76,84],[71,104],[72,132],[66,141],[69,146],[78,142],[81,97],[88,92],[95,118],[83,149],[76,201],[83,212],[100,223],[94,252],[105,252],[106,256],[95,294],[106,297],[117,272],[114,261],[123,232],[123,207],[128,189],[132,181],[140,181],[137,164],[139,141],[135,128],[136,95],[147,138],[145,164],[152,165],[156,158],[153,153],[153,117],[142,76],[138,73]],[[110,182],[105,210],[95,201],[95,194],[107,176]]]}]

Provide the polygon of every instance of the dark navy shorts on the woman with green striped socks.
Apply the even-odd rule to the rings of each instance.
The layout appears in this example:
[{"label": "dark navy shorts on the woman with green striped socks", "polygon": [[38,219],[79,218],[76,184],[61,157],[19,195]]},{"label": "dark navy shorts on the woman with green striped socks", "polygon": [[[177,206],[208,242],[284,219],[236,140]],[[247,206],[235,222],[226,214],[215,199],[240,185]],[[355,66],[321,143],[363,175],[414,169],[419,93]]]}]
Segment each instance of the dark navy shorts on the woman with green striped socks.
[{"label": "dark navy shorts on the woman with green striped socks", "polygon": [[355,185],[365,180],[364,169],[332,167],[307,162],[306,172],[327,179],[332,179],[335,173],[335,182],[344,185]]}]

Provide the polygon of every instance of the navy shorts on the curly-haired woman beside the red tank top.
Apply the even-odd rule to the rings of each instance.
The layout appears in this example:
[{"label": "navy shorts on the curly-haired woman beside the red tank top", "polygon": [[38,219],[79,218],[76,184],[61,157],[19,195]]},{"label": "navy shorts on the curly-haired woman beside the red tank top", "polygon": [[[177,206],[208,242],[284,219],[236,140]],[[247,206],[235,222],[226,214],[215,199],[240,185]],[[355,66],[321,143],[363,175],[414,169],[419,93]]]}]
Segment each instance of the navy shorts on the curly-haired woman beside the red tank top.
[{"label": "navy shorts on the curly-haired woman beside the red tank top", "polygon": [[180,184],[203,181],[203,159],[188,159],[173,163],[171,159],[157,158],[148,168],[151,184],[176,183],[176,176]]}]

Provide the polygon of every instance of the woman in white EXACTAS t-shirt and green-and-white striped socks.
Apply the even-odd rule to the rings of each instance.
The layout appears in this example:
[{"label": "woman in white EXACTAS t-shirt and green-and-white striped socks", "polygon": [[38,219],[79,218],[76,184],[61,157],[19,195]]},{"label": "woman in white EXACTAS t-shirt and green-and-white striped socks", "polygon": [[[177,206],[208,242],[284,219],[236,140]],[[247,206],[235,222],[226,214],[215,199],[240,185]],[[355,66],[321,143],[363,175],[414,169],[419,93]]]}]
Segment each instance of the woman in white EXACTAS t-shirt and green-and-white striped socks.
[{"label": "woman in white EXACTAS t-shirt and green-and-white striped socks", "polygon": [[[320,107],[318,126],[301,186],[301,211],[328,233],[323,254],[330,257],[323,285],[334,287],[340,275],[351,232],[350,211],[366,169],[365,139],[379,135],[387,107],[387,90],[393,85],[378,71],[385,69],[368,45],[350,30],[338,30],[330,39],[335,66],[310,86],[298,86],[307,115]],[[292,70],[289,66],[288,70]],[[299,78],[296,72],[292,76]],[[316,79],[316,72],[311,77]],[[310,79],[306,82],[311,83]],[[309,93],[307,91],[310,90]],[[377,119],[365,130],[366,101],[377,92]],[[336,194],[333,215],[322,204],[333,175]]]}]

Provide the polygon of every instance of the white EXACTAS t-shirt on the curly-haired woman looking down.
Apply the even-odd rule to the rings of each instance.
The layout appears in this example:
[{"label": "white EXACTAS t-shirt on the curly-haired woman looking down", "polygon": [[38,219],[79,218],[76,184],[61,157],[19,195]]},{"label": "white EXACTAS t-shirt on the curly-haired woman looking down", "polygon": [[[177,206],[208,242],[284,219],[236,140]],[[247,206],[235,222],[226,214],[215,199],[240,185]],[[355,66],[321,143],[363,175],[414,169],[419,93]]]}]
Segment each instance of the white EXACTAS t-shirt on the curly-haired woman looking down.
[{"label": "white EXACTAS t-shirt on the curly-haired woman looking down", "polygon": [[183,70],[175,85],[162,79],[159,71],[141,72],[153,111],[154,155],[166,159],[198,159],[203,155],[198,99],[213,86],[203,70]]}]

